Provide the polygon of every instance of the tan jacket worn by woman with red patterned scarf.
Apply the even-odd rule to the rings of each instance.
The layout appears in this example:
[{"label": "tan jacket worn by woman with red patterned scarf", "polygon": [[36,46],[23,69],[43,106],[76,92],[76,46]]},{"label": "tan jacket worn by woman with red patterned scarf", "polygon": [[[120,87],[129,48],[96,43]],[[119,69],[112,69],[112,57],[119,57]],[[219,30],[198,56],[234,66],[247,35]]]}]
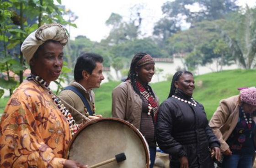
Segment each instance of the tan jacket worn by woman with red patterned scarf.
[{"label": "tan jacket worn by woman with red patterned scarf", "polygon": [[[159,99],[155,95],[159,105]],[[119,84],[112,92],[112,117],[120,118],[140,128],[142,100],[128,82]]]}]

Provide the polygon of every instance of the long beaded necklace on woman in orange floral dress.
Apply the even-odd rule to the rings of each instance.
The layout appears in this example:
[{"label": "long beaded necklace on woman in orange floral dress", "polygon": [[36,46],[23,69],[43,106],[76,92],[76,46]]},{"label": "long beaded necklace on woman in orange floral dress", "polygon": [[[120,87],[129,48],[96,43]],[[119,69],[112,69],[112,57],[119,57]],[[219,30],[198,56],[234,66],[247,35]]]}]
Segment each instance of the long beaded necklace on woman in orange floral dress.
[{"label": "long beaded necklace on woman in orange floral dress", "polygon": [[71,131],[71,135],[73,136],[75,132],[78,131],[78,125],[75,123],[75,120],[73,119],[72,115],[69,113],[69,110],[66,109],[66,107],[64,106],[64,104],[61,103],[59,98],[52,93],[51,89],[49,88],[49,85],[41,77],[33,74],[30,74],[27,77],[27,80],[33,80],[39,83],[43,88],[48,90],[48,94],[51,96],[53,102],[57,105],[60,112],[65,116],[66,120],[68,121],[69,129]]}]

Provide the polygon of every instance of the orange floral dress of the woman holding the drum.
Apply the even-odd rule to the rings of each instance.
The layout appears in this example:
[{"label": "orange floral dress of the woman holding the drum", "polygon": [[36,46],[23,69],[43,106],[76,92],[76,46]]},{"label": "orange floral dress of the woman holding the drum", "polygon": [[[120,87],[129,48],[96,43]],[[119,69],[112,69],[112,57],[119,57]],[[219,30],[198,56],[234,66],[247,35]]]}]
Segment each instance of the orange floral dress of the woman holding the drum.
[{"label": "orange floral dress of the woman holding the drum", "polygon": [[46,89],[24,81],[0,122],[0,167],[62,168],[71,139],[69,124]]}]

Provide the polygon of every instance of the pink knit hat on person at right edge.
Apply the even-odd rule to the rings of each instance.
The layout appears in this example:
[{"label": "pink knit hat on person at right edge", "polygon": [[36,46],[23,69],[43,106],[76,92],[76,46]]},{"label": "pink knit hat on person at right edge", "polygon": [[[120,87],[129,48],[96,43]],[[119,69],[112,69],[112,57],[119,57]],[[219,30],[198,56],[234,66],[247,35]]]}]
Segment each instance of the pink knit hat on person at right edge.
[{"label": "pink knit hat on person at right edge", "polygon": [[256,106],[256,88],[244,88],[240,90],[240,99],[242,102]]}]

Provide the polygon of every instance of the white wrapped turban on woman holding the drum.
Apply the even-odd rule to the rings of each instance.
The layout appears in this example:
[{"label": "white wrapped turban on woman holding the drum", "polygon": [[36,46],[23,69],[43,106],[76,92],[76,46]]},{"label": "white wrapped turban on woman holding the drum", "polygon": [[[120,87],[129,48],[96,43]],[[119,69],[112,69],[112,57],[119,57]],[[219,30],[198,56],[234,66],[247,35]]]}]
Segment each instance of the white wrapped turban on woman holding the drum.
[{"label": "white wrapped turban on woman holding the drum", "polygon": [[21,52],[26,62],[29,64],[37,48],[47,40],[60,42],[63,46],[68,42],[68,34],[66,29],[59,23],[52,23],[39,27],[32,32],[22,43]]}]

